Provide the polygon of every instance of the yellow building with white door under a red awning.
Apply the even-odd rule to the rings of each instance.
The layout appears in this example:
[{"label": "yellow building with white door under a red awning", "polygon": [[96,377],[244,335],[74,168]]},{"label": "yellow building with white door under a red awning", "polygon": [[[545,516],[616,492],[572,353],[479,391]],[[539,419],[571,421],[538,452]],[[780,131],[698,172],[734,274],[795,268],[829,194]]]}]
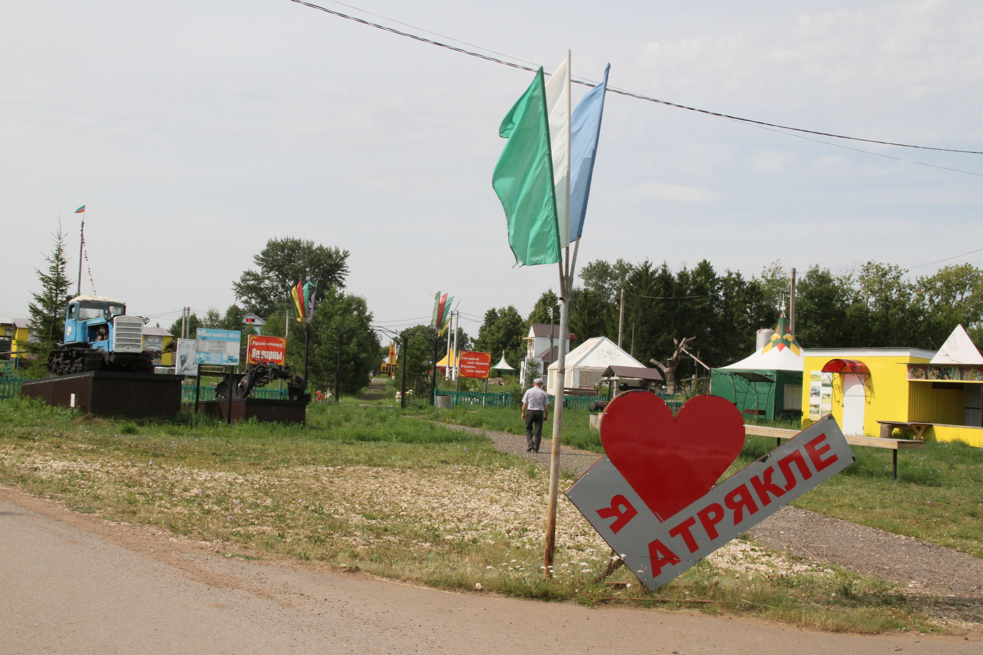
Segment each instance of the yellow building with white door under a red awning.
[{"label": "yellow building with white door under a red awning", "polygon": [[911,348],[803,354],[803,428],[833,414],[849,436],[901,429],[983,447],[983,366],[955,364],[944,373],[943,366],[930,363],[936,353]]}]

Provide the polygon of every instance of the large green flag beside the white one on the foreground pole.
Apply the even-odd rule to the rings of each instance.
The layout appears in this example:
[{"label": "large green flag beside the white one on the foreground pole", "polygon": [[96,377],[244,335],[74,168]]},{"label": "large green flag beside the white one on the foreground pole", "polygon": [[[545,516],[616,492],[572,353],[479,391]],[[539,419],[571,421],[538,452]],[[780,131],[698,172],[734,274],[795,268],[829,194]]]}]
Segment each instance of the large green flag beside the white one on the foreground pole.
[{"label": "large green flag beside the white one on the foreground pole", "polygon": [[508,142],[494,167],[492,187],[505,209],[515,264],[555,264],[562,259],[542,68],[505,115],[498,136]]}]

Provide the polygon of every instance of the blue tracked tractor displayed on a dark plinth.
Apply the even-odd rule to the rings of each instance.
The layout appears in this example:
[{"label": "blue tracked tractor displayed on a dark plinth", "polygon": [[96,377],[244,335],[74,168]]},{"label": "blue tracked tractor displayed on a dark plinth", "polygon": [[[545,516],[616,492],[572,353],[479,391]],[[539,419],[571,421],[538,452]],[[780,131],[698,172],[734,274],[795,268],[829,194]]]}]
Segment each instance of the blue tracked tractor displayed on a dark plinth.
[{"label": "blue tracked tractor displayed on a dark plinth", "polygon": [[54,375],[93,370],[152,372],[152,353],[144,351],[142,316],[128,316],[126,303],[101,296],[68,301],[65,340],[48,356]]}]

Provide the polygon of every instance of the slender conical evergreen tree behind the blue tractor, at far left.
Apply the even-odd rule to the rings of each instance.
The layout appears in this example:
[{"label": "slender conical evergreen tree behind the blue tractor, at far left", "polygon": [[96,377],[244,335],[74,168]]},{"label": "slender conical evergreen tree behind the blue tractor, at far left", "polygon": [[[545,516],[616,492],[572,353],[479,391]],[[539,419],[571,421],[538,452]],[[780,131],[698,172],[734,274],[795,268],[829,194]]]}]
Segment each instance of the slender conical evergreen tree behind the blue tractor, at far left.
[{"label": "slender conical evergreen tree behind the blue tractor, at far left", "polygon": [[58,232],[53,237],[51,254],[44,257],[47,267],[43,271],[34,269],[41,283],[40,293],[31,294],[33,302],[28,305],[30,332],[34,341],[19,344],[43,364],[47,363],[48,353],[61,341],[65,332],[65,300],[72,286],[72,280],[65,272],[68,258],[65,254],[65,233],[61,226],[58,226]]}]

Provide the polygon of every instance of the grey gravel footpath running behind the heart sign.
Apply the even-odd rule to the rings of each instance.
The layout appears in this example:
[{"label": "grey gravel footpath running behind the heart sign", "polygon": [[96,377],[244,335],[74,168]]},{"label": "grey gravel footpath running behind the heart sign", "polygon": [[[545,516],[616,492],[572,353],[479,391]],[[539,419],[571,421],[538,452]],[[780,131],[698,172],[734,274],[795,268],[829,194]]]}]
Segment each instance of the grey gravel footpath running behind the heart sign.
[{"label": "grey gravel footpath running behind the heart sign", "polygon": [[[524,435],[443,425],[484,434],[499,451],[549,465],[551,439],[543,439],[539,454],[526,453]],[[560,466],[580,475],[600,457],[597,453],[562,447]],[[983,616],[983,560],[966,553],[796,507],[782,508],[749,533],[755,541],[774,550],[876,575],[911,591],[978,605],[978,614]]]}]

